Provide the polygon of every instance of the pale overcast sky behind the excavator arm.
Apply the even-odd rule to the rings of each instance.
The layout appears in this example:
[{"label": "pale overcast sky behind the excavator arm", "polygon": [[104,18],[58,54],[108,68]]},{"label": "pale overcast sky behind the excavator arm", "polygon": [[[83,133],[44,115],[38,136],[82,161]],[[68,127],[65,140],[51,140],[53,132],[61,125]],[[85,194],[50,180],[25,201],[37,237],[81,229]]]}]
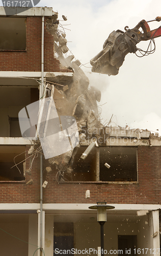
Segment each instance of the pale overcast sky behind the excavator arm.
[{"label": "pale overcast sky behind the excavator arm", "polygon": [[[60,23],[66,31],[68,48],[87,68],[83,68],[90,85],[102,92],[100,104],[104,123],[111,116],[113,121],[132,129],[159,130],[161,135],[160,108],[160,57],[161,37],[155,39],[156,51],[142,58],[133,53],[125,57],[116,76],[91,72],[90,59],[102,50],[103,43],[113,30],[135,27],[142,19],[161,16],[160,0],[41,0],[38,6],[52,7],[58,11]],[[68,20],[61,21],[62,15]],[[149,23],[151,29],[161,22]],[[137,46],[147,49],[148,42]],[[68,53],[69,54],[69,53]],[[105,121],[106,120],[106,121]],[[115,124],[113,123],[113,124]]]}]

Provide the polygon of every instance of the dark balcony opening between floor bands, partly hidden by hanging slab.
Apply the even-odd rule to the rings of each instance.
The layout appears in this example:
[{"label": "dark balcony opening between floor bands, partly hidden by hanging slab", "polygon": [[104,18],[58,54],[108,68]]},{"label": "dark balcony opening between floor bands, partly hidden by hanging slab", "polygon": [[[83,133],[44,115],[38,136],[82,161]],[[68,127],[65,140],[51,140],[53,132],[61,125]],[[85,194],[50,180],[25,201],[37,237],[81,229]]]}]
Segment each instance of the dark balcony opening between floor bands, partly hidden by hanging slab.
[{"label": "dark balcony opening between floor bands, partly hidden by hanging slab", "polygon": [[[23,81],[27,85],[32,80],[23,79]],[[30,88],[30,86],[2,86],[0,88],[0,137],[22,137],[18,113],[26,105],[37,100],[39,100],[38,88]]]}]

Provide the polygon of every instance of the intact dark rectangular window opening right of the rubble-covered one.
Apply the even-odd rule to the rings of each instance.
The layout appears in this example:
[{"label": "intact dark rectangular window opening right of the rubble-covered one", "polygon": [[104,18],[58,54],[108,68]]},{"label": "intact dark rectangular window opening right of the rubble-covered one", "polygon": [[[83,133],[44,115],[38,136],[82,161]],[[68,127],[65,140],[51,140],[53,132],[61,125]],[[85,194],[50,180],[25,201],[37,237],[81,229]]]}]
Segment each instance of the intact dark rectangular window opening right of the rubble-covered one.
[{"label": "intact dark rectangular window opening right of the rubble-covered one", "polygon": [[100,181],[137,181],[136,147],[100,147],[99,160]]}]

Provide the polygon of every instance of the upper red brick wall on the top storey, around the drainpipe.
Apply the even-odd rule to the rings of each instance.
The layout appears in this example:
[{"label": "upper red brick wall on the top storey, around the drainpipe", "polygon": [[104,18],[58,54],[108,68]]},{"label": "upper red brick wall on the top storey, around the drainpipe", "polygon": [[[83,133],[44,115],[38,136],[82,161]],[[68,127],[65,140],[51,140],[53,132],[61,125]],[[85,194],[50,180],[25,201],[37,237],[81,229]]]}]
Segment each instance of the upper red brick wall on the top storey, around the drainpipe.
[{"label": "upper red brick wall on the top storey, around the drainpipe", "polygon": [[[26,52],[0,51],[0,71],[41,71],[42,17],[26,18]],[[54,58],[53,36],[44,31],[44,71],[60,72],[59,60]]]}]

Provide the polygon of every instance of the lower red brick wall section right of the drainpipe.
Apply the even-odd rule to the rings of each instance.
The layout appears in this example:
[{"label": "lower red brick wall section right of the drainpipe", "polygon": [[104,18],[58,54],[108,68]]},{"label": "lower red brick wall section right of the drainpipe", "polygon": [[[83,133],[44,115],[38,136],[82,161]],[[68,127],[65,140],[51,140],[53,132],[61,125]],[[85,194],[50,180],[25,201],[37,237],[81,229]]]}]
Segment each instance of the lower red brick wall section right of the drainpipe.
[{"label": "lower red brick wall section right of the drainpipe", "polygon": [[[56,181],[56,173],[46,177],[48,187],[44,190],[44,203],[96,203],[110,204],[160,204],[161,203],[161,147],[138,147],[139,183],[67,184]],[[86,190],[90,198],[86,199]]]}]

